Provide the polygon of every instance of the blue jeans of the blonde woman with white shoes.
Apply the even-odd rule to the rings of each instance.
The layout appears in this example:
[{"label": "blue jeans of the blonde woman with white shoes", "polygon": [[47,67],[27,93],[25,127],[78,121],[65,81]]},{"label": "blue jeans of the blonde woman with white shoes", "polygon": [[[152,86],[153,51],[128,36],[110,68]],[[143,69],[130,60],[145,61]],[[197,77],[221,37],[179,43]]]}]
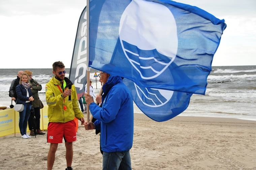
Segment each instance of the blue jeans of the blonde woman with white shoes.
[{"label": "blue jeans of the blonde woman with white shoes", "polygon": [[31,110],[31,102],[28,102],[24,104],[24,110],[20,112],[19,127],[20,127],[21,135],[24,135],[27,133],[27,125],[28,125],[30,110]]}]

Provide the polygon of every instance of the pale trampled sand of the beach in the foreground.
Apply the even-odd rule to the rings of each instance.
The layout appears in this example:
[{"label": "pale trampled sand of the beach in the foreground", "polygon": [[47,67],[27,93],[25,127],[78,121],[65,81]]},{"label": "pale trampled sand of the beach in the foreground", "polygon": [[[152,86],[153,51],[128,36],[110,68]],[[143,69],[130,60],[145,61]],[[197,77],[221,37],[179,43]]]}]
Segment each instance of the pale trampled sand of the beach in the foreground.
[{"label": "pale trampled sand of the beach in the foreground", "polygon": [[[20,134],[0,138],[1,168],[47,169],[46,135],[22,139]],[[256,121],[232,118],[178,116],[155,122],[134,114],[134,170],[255,170]],[[102,169],[99,135],[79,126],[73,144],[73,169]],[[53,169],[66,167],[65,146],[59,144]]]}]

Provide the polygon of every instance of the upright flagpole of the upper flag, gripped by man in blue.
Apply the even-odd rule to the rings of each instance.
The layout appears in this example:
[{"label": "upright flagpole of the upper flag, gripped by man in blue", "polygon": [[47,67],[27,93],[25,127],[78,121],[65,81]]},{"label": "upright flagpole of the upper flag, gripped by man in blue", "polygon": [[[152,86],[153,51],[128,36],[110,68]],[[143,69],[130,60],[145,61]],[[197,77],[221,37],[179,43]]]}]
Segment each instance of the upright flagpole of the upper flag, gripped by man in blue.
[{"label": "upright flagpole of the upper flag, gripped by man in blue", "polygon": [[[87,93],[90,94],[90,67],[88,67],[89,65],[89,19],[90,19],[90,0],[87,0],[86,1],[86,21],[87,21],[87,38],[86,38],[86,41],[87,41],[87,46],[86,46],[86,49],[87,49]],[[89,109],[89,105],[87,104],[87,119],[86,119],[86,122],[89,122],[90,121],[90,109]]]}]

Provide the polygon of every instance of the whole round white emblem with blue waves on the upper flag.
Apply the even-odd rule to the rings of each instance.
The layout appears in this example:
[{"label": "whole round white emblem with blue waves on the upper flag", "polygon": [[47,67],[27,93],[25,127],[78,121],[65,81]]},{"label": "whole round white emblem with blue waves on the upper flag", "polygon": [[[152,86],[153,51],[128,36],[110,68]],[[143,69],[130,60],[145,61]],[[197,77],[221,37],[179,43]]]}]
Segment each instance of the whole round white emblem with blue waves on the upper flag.
[{"label": "whole round white emblem with blue waves on the upper flag", "polygon": [[121,16],[119,37],[126,58],[143,79],[159,76],[177,54],[175,19],[162,4],[132,0]]}]

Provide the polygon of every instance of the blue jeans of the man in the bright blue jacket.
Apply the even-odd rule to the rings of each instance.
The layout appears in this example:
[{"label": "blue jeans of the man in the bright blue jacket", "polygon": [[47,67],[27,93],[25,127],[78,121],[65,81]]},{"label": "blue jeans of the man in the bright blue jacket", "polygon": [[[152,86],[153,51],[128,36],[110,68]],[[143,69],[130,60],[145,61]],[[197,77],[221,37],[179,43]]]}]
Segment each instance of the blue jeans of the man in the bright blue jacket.
[{"label": "blue jeans of the man in the bright blue jacket", "polygon": [[130,152],[103,152],[102,170],[131,170]]}]

